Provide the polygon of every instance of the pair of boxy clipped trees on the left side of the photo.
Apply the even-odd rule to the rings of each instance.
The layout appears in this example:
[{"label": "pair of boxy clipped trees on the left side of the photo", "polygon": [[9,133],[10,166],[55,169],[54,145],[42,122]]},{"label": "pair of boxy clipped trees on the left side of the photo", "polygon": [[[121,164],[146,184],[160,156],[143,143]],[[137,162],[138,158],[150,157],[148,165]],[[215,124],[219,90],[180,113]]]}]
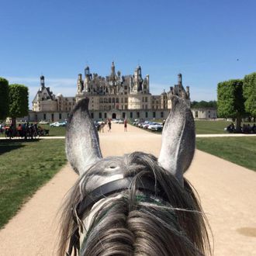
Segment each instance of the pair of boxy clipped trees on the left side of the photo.
[{"label": "pair of boxy clipped trees on the left side of the photo", "polygon": [[29,89],[25,85],[12,84],[5,78],[0,78],[0,120],[12,118],[16,124],[16,117],[29,114]]}]

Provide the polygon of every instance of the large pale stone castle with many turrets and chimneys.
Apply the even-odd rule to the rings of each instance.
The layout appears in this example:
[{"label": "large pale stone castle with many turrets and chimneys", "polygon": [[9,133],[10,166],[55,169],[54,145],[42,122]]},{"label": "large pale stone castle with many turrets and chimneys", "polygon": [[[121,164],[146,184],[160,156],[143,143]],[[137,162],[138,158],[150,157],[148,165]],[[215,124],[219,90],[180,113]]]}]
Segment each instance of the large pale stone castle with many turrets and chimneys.
[{"label": "large pale stone castle with many turrets and chimneys", "polygon": [[77,93],[74,97],[57,97],[45,87],[44,77],[40,77],[40,89],[33,99],[30,119],[47,119],[51,122],[67,119],[75,104],[87,97],[89,112],[93,119],[165,119],[171,109],[171,95],[178,95],[190,105],[189,87],[184,89],[182,74],[178,74],[178,84],[161,95],[151,95],[150,78],[142,76],[138,66],[133,74],[121,75],[112,62],[110,74],[102,77],[92,74],[85,67],[85,75],[78,74]]}]

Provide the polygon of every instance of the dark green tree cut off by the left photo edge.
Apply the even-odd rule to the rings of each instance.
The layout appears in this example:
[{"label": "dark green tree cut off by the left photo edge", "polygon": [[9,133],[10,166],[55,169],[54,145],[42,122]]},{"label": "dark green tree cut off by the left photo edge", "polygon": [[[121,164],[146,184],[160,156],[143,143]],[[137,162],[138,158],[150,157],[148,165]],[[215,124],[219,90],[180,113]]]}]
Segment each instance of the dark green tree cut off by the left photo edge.
[{"label": "dark green tree cut off by the left photo edge", "polygon": [[5,119],[9,112],[9,82],[0,78],[0,120]]}]

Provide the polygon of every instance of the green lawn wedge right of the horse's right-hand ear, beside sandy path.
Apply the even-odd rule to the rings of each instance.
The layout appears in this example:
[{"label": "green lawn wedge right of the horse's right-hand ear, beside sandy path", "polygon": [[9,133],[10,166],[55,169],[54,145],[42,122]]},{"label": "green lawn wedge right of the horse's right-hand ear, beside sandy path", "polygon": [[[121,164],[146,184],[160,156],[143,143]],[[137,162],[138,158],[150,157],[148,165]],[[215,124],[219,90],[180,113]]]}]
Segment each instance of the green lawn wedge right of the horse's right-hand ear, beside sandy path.
[{"label": "green lawn wedge right of the horse's right-hand ear, beside sandy path", "polygon": [[256,171],[256,137],[197,138],[196,147]]}]

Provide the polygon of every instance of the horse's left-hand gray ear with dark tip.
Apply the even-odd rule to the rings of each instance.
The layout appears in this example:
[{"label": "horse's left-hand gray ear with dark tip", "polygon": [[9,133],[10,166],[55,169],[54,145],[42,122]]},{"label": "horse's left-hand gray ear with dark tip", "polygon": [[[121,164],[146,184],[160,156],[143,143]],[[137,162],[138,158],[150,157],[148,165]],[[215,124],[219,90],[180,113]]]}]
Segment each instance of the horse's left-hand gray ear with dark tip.
[{"label": "horse's left-hand gray ear with dark tip", "polygon": [[102,158],[99,135],[88,112],[88,102],[88,99],[81,99],[67,122],[67,160],[79,175]]}]

